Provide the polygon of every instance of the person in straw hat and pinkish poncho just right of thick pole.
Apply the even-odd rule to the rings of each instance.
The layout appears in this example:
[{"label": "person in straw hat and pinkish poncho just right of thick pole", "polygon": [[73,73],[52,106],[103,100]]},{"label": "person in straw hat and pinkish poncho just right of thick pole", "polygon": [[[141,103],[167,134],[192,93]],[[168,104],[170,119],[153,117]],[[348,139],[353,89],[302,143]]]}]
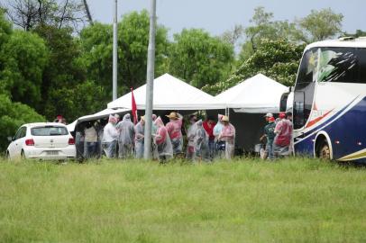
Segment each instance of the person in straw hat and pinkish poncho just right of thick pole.
[{"label": "person in straw hat and pinkish poncho just right of thick pole", "polygon": [[175,156],[177,154],[181,154],[183,150],[183,116],[178,112],[170,112],[166,117],[169,118],[169,122],[165,127],[168,130],[171,145],[173,146],[173,154]]}]

